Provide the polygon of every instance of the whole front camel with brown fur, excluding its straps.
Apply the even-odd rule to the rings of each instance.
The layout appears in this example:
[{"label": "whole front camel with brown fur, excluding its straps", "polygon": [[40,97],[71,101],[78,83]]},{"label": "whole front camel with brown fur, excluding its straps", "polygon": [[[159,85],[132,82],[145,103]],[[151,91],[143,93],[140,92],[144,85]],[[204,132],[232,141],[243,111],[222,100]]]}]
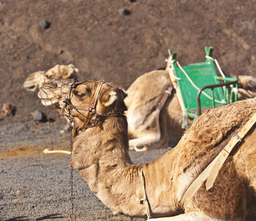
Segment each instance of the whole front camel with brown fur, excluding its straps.
[{"label": "whole front camel with brown fur, excluding its straps", "polygon": [[[168,220],[245,220],[256,201],[256,130],[253,127],[223,164],[215,184],[205,182],[186,208],[181,197],[203,169],[256,112],[256,99],[247,99],[206,111],[186,131],[178,145],[150,164],[132,164],[129,156],[126,94],[104,83],[93,105],[99,82],[73,85],[70,80],[49,81],[38,92],[42,104],[73,117],[71,164],[92,192],[115,214]],[[82,130],[88,111],[94,113]],[[95,122],[95,118],[97,121]],[[95,124],[93,123],[95,122]],[[181,214],[184,211],[185,214]],[[176,214],[180,214],[176,217]]]}]

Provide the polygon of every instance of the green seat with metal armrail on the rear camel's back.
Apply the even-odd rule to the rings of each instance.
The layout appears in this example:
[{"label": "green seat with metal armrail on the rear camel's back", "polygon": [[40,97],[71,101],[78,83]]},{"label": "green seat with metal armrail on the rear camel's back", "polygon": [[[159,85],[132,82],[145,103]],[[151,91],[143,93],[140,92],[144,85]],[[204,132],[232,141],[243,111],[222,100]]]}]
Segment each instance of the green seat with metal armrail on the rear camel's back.
[{"label": "green seat with metal armrail on the rear camel's back", "polygon": [[[238,80],[224,76],[217,60],[212,57],[212,50],[212,47],[205,47],[205,62],[186,66],[178,63],[176,52],[172,55],[169,51],[166,69],[169,70],[172,83],[176,85],[185,118],[189,116],[196,119],[207,109],[227,105],[237,99]],[[215,65],[221,76],[217,74]]]}]

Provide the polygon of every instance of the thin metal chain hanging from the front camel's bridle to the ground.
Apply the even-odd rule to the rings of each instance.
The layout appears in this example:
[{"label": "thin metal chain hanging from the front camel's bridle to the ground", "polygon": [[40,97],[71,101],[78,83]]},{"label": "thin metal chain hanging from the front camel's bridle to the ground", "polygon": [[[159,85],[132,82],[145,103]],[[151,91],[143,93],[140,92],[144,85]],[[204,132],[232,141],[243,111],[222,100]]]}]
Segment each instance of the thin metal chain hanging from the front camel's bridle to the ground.
[{"label": "thin metal chain hanging from the front camel's bridle to the ground", "polygon": [[70,187],[71,187],[71,192],[70,192],[70,220],[75,221],[75,208],[74,208],[74,190],[73,190],[73,166],[71,164],[71,155],[73,154],[73,138],[72,138],[72,130],[73,130],[73,116],[71,116],[70,113],[70,108],[68,109],[69,111],[69,125],[70,125]]}]

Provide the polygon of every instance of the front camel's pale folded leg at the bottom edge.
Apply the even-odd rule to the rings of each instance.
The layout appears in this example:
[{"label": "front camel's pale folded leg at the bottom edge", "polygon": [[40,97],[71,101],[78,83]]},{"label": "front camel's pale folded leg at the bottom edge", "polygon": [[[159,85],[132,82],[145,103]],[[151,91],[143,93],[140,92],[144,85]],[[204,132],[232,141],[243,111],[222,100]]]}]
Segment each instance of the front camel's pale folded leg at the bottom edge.
[{"label": "front camel's pale folded leg at the bottom edge", "polygon": [[153,218],[149,219],[150,221],[218,221],[218,219],[211,218],[203,214],[202,212],[191,212],[187,214],[181,214],[175,217],[162,217],[162,218]]}]

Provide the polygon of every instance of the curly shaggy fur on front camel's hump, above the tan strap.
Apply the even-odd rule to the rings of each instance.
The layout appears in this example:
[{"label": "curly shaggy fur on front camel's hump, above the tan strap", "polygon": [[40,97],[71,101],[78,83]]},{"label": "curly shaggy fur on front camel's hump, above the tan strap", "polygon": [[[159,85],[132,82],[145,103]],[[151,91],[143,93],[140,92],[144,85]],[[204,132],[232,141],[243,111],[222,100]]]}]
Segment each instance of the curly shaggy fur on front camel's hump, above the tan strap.
[{"label": "curly shaggy fur on front camel's hump, above the tan strap", "polygon": [[255,112],[256,98],[208,110],[192,124],[186,136],[201,147],[214,147],[230,130],[243,127]]}]

